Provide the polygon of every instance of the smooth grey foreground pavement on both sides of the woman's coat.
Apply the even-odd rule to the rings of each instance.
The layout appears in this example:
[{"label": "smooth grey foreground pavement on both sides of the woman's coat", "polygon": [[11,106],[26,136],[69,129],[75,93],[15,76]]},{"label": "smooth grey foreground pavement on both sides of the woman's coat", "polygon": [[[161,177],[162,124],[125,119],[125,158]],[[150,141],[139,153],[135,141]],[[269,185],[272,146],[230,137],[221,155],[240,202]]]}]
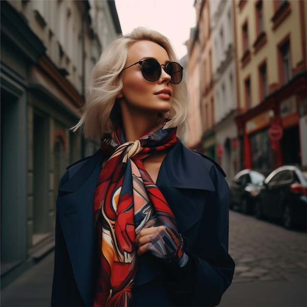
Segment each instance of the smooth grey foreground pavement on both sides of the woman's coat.
[{"label": "smooth grey foreground pavement on both sides of the woman's coat", "polygon": [[[1,307],[48,307],[54,253],[24,272],[1,291]],[[233,282],[220,307],[306,307],[304,281]]]}]

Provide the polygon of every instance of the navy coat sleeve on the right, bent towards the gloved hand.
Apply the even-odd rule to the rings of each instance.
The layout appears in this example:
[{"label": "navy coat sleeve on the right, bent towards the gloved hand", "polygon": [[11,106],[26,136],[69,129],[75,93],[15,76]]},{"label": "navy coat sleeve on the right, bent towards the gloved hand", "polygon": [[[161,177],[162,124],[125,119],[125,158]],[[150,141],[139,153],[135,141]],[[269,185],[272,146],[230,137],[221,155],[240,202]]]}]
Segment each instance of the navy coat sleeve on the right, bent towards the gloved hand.
[{"label": "navy coat sleeve on the right, bent towards the gloved hand", "polygon": [[189,261],[183,268],[165,267],[165,281],[182,306],[217,306],[233,277],[234,261],[228,253],[229,186],[213,165],[210,177],[215,191],[205,193],[197,244],[185,244]]}]

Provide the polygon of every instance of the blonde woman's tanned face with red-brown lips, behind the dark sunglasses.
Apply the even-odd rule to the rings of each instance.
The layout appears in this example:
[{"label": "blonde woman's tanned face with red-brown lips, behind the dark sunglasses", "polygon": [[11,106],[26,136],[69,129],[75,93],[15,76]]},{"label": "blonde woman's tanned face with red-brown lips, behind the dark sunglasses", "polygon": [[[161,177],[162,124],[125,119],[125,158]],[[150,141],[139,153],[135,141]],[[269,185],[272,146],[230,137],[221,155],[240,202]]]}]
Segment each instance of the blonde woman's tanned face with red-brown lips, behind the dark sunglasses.
[{"label": "blonde woman's tanned face with red-brown lips, behind the dark sunglasses", "polygon": [[[166,64],[170,60],[163,47],[151,41],[142,40],[130,46],[125,67],[145,58],[154,58],[160,64]],[[162,66],[161,77],[154,82],[143,77],[139,64],[123,71],[123,89],[118,98],[129,112],[157,114],[170,110],[174,85],[170,83],[171,77],[163,68],[164,66]]]}]

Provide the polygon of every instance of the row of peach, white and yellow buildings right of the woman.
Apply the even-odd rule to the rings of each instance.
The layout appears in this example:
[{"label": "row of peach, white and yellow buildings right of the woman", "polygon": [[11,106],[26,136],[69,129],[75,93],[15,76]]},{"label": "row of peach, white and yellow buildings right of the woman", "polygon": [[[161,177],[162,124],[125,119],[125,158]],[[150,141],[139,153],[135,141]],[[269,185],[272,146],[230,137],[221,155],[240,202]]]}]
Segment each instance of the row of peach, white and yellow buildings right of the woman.
[{"label": "row of peach, white and yellow buildings right of the woman", "polygon": [[[244,168],[268,173],[283,164],[307,166],[307,2],[194,5],[201,151],[228,179]],[[189,70],[197,69],[195,59],[189,57]],[[198,91],[195,84],[191,91]]]}]

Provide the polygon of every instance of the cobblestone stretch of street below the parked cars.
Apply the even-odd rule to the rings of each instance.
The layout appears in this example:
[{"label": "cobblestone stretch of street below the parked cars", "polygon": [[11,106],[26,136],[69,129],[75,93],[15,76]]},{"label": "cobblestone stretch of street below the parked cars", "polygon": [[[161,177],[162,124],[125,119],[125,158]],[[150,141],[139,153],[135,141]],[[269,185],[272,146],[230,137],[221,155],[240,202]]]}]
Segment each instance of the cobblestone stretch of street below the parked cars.
[{"label": "cobblestone stretch of street below the parked cars", "polygon": [[229,246],[236,263],[233,283],[306,282],[306,231],[230,211]]}]

